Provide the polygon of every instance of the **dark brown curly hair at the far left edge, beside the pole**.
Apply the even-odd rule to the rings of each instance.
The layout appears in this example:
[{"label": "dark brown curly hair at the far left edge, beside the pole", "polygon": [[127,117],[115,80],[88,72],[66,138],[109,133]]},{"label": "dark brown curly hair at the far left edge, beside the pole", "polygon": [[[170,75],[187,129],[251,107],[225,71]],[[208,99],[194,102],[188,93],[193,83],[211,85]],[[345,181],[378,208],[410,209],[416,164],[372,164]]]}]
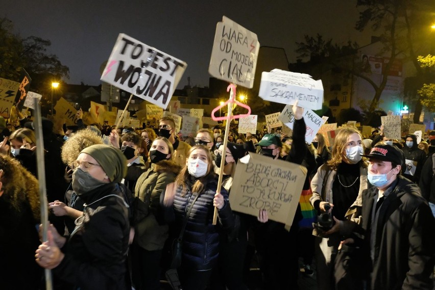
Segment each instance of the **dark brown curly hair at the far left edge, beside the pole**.
[{"label": "dark brown curly hair at the far left edge, beside the pole", "polygon": [[35,223],[41,219],[38,180],[15,158],[0,154],[0,169],[3,170],[2,190],[4,199],[17,211],[27,203],[32,210]]}]

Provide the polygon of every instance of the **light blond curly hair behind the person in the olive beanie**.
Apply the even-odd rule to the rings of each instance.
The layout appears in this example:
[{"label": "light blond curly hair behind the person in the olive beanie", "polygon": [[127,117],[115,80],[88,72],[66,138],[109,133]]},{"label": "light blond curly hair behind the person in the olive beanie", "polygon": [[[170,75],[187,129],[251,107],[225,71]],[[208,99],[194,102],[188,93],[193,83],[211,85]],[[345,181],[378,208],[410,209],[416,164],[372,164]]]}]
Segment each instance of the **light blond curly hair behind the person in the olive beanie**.
[{"label": "light blond curly hair behind the person in the olive beanie", "polygon": [[66,165],[71,164],[79,156],[83,149],[95,145],[103,144],[101,137],[95,131],[86,128],[77,131],[63,143],[62,146],[62,161]]}]

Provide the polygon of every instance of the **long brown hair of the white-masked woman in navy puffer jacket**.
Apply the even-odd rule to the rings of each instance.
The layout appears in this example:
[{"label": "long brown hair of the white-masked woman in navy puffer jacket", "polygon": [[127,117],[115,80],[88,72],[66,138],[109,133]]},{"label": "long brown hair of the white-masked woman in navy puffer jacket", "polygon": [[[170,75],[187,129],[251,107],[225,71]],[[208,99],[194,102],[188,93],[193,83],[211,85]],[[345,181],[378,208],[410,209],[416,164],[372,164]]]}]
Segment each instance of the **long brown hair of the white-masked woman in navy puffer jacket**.
[{"label": "long brown hair of the white-masked woman in navy puffer jacket", "polygon": [[[207,173],[204,176],[198,178],[198,180],[195,182],[194,186],[192,186],[192,190],[191,190],[192,192],[198,192],[198,194],[201,194],[205,189],[205,185],[206,185],[207,181],[211,178],[214,178],[215,173],[213,171],[213,157],[211,156],[210,150],[205,148],[205,146],[195,145],[194,147],[190,148],[187,158],[189,158],[190,154],[192,154],[192,152],[194,152],[197,149],[203,150],[205,152],[205,154],[207,155],[207,161],[208,161]],[[183,187],[182,196],[184,196],[186,194],[186,191],[187,191],[186,180],[188,180],[189,175],[190,174],[189,174],[189,171],[188,171],[187,165],[186,165],[183,167],[180,174],[178,174],[177,178],[175,179],[175,183],[177,185],[181,185]]]}]

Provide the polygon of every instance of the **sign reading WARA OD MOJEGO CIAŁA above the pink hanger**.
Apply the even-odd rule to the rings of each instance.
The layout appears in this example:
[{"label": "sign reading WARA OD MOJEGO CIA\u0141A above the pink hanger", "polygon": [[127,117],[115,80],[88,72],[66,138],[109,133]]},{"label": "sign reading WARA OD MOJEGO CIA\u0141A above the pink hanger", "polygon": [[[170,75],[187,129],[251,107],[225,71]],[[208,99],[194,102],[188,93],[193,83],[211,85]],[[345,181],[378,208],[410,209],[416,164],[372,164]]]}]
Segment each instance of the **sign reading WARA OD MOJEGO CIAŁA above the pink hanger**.
[{"label": "sign reading WARA OD MOJEGO CIA\u0141A above the pink hanger", "polygon": [[255,33],[224,16],[216,25],[208,72],[217,79],[252,88],[259,49]]}]

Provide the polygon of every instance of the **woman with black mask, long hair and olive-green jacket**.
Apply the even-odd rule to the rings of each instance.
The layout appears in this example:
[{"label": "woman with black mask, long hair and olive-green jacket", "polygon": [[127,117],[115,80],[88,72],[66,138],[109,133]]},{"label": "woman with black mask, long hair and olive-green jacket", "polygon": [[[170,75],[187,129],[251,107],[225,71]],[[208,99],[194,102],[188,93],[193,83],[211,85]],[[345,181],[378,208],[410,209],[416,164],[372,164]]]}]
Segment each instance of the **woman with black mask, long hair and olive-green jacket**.
[{"label": "woman with black mask, long hair and olive-green jacket", "polygon": [[151,167],[137,180],[133,209],[135,239],[131,246],[133,283],[136,289],[160,289],[160,260],[168,237],[160,195],[173,182],[181,167],[173,161],[174,148],[165,137],[151,144]]}]

